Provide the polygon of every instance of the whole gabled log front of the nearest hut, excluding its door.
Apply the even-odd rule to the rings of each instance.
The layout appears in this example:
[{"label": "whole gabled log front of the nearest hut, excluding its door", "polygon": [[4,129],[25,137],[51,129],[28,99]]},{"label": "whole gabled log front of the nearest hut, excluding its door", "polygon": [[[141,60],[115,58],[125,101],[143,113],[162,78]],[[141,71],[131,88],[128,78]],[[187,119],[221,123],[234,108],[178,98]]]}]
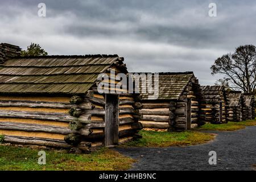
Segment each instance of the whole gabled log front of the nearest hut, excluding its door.
[{"label": "whole gabled log front of the nearest hut, excluding its door", "polygon": [[[122,73],[121,68],[115,66],[110,68],[111,71],[115,71],[115,76],[118,73]],[[110,77],[110,69],[106,72],[109,76],[108,85],[109,93],[117,94],[117,91],[126,91],[127,86],[122,85],[120,90],[116,89],[118,81]],[[104,80],[106,82],[106,80]],[[103,81],[103,82],[104,82]],[[97,83],[98,84],[98,83]],[[96,85],[97,85],[96,84]],[[92,90],[89,90],[82,98],[84,101],[92,102],[93,109],[90,111],[90,121],[82,125],[82,129],[86,131],[92,131],[88,136],[81,136],[82,141],[91,142],[93,147],[100,147],[104,145],[105,138],[105,94],[98,93],[97,86],[94,85]],[[113,90],[114,89],[114,90]],[[119,143],[127,142],[133,138],[138,137],[137,133],[142,129],[141,123],[138,122],[141,115],[138,113],[139,107],[141,107],[141,98],[138,94],[120,93],[119,99],[119,127],[118,137]]]}]

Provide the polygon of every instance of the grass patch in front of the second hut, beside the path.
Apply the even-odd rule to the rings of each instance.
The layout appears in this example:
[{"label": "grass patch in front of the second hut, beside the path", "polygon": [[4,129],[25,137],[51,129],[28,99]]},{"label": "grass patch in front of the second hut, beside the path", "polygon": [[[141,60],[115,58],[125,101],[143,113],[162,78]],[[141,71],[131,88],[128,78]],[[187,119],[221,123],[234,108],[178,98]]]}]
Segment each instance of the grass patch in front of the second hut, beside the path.
[{"label": "grass patch in front of the second hut, beside the path", "polygon": [[214,139],[213,134],[201,133],[198,131],[183,131],[176,132],[158,132],[145,131],[139,132],[142,135],[141,139],[137,139],[123,146],[135,147],[170,147],[170,146],[188,146],[209,142]]}]

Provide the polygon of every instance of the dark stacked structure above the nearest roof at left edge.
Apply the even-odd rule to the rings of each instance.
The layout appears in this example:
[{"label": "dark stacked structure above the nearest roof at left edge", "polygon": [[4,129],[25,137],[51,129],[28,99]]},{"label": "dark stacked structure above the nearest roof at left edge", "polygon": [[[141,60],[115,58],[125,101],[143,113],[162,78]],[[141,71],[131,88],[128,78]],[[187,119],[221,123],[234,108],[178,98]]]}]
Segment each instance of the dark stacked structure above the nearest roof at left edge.
[{"label": "dark stacked structure above the nearest roof at left edge", "polygon": [[0,64],[5,63],[6,60],[13,57],[20,56],[21,48],[12,44],[1,43],[0,44]]}]

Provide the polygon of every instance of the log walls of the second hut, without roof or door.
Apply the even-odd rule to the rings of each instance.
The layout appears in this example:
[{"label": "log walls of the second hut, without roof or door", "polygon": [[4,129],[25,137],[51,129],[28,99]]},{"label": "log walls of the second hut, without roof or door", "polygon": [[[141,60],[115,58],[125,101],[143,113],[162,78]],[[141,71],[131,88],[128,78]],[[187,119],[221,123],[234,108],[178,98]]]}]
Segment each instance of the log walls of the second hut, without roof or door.
[{"label": "log walls of the second hut, without roof or door", "polygon": [[201,117],[201,99],[203,98],[200,85],[196,78],[184,88],[179,100],[143,100],[140,122],[143,127],[167,129],[168,131],[187,130],[187,102],[191,99],[191,123],[203,125]]}]

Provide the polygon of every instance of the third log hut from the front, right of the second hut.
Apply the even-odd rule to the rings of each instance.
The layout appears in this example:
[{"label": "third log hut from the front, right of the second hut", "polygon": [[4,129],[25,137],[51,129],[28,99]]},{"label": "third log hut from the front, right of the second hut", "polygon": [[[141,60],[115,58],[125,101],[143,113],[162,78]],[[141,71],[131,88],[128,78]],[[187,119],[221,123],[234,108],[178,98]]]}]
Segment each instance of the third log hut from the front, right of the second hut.
[{"label": "third log hut from the front, right of the second hut", "polygon": [[205,121],[210,123],[226,123],[226,92],[224,86],[201,86],[204,104]]}]

